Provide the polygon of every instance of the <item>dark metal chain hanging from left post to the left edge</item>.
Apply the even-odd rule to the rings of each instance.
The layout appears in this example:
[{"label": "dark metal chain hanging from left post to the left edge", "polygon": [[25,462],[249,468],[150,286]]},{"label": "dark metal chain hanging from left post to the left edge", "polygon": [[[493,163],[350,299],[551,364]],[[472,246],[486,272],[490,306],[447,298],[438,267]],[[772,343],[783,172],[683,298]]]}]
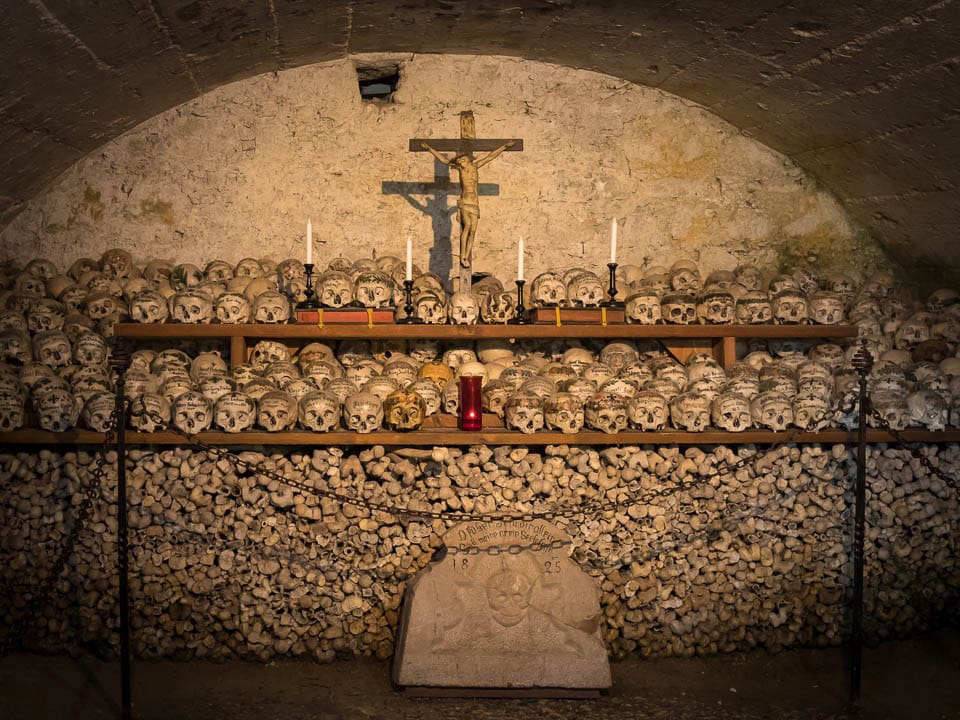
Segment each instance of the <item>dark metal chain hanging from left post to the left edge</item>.
[{"label": "dark metal chain hanging from left post to the left edge", "polygon": [[[116,410],[114,410],[113,414],[107,420],[107,429],[104,433],[104,441],[100,446],[97,447],[95,451],[93,465],[89,470],[90,482],[86,487],[81,485],[79,489],[79,492],[83,493],[83,498],[79,503],[76,513],[74,514],[73,524],[63,540],[63,544],[60,547],[60,554],[54,560],[53,565],[47,575],[43,578],[40,585],[34,588],[32,591],[22,586],[15,587],[13,583],[7,584],[2,588],[2,590],[0,590],[0,597],[10,598],[11,601],[18,595],[24,595],[27,593],[31,594],[30,601],[27,603],[26,607],[23,608],[22,617],[19,619],[19,621],[10,622],[10,632],[3,640],[0,640],[0,657],[8,655],[21,646],[23,637],[26,635],[31,621],[39,615],[42,603],[49,599],[53,592],[54,586],[60,580],[60,576],[66,569],[67,563],[70,561],[70,557],[73,555],[73,550],[76,547],[77,539],[86,526],[87,520],[90,518],[90,514],[93,512],[94,504],[102,498],[104,481],[109,480],[107,477],[106,459],[107,453],[112,449],[114,444],[114,435],[116,434],[117,430],[117,418],[118,413]],[[75,494],[67,495],[66,504],[68,507],[73,503],[74,495]],[[12,612],[12,610],[13,608],[11,606],[10,611]]]}]

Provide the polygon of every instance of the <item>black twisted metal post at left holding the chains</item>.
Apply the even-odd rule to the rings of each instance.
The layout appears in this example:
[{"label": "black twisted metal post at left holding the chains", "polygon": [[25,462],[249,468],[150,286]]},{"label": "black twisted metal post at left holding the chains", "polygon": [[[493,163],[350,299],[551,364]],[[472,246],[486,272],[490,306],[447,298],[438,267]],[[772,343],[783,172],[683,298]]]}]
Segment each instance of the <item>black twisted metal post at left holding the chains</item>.
[{"label": "black twisted metal post at left holding the chains", "polygon": [[130,363],[130,345],[119,340],[114,345],[110,364],[117,372],[117,574],[120,580],[120,707],[123,720],[132,717],[130,693],[130,578],[129,537],[127,532],[127,399],[126,374]]}]

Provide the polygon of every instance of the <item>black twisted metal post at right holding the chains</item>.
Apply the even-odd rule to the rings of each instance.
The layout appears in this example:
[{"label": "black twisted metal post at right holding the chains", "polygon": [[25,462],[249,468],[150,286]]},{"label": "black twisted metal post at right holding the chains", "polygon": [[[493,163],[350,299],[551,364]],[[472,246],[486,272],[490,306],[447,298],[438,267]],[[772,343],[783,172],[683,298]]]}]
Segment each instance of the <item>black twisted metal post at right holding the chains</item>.
[{"label": "black twisted metal post at right holding the chains", "polygon": [[867,498],[867,375],[873,358],[866,343],[853,356],[860,383],[860,413],[857,425],[857,480],[854,486],[853,512],[853,607],[850,632],[850,702],[860,704],[860,679],[863,674],[863,543]]}]

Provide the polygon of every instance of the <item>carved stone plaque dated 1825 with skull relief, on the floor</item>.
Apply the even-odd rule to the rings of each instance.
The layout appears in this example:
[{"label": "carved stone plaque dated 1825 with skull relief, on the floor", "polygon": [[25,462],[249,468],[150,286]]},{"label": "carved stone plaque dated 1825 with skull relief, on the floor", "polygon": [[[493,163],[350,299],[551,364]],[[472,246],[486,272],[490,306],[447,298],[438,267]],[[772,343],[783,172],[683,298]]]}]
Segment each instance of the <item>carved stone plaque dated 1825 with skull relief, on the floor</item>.
[{"label": "carved stone plaque dated 1825 with skull relief, on the floor", "polygon": [[545,520],[467,522],[407,587],[394,681],[407,688],[611,685],[600,588]]}]

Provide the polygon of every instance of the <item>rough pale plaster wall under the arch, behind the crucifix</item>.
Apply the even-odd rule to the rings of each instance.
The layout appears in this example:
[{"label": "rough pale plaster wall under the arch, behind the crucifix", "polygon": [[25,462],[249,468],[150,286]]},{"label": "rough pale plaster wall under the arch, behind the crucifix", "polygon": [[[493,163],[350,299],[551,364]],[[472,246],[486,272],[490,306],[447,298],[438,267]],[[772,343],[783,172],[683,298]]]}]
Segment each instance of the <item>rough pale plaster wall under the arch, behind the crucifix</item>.
[{"label": "rough pale plaster wall under the arch, behind the crucifix", "polygon": [[[362,101],[353,62],[304,66],[210,91],[104,145],[0,234],[2,254],[69,266],[110,247],[141,261],[399,255],[446,277],[456,197],[401,183],[446,168],[407,151],[455,137],[474,110],[481,137],[521,137],[481,170],[477,271],[508,280],[526,238],[527,276],[603,267],[609,225],[621,263],[693,257],[773,271],[810,261],[869,271],[883,258],[842,208],[784,156],[680,98],[594,72],[504,57],[402,59],[394,102]],[[454,180],[456,173],[454,173]],[[408,186],[409,187],[409,186]],[[413,187],[423,190],[422,185]],[[426,207],[416,207],[416,205]],[[451,236],[453,240],[451,240]]]}]

